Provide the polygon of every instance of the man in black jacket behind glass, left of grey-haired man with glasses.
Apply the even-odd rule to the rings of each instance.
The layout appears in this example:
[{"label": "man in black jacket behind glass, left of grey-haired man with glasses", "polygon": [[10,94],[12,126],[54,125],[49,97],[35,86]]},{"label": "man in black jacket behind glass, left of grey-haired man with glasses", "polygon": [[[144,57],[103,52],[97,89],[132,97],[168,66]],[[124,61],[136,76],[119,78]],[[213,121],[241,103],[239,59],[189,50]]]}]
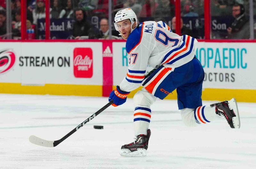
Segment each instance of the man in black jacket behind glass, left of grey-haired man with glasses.
[{"label": "man in black jacket behind glass, left of grey-haired man with glasses", "polygon": [[73,36],[76,39],[80,39],[81,36],[88,36],[88,30],[91,27],[91,24],[86,21],[85,13],[82,9],[76,9],[76,21],[73,26]]}]

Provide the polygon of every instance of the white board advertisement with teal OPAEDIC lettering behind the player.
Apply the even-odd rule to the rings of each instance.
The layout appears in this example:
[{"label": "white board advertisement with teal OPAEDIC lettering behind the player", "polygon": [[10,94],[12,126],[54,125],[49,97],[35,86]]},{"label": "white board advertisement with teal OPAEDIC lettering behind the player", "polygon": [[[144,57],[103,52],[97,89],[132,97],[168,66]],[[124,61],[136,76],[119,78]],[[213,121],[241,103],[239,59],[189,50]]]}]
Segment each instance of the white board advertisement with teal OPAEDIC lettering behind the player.
[{"label": "white board advertisement with teal OPAEDIC lettering behind the player", "polygon": [[[196,57],[204,67],[203,88],[256,89],[255,53],[254,43],[199,42]],[[125,42],[113,42],[113,55],[113,85],[119,85],[129,63]]]}]

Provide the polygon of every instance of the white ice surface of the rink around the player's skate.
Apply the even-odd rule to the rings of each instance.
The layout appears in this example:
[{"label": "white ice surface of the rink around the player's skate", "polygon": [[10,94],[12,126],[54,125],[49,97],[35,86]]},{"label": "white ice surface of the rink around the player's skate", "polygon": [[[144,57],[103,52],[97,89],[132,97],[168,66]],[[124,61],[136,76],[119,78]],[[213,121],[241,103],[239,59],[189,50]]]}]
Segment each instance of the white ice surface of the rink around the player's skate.
[{"label": "white ice surface of the rink around the player's skate", "polygon": [[[54,141],[108,103],[106,97],[0,94],[1,169],[255,169],[256,105],[238,103],[241,128],[224,118],[186,127],[176,100],[152,107],[146,157],[122,157],[133,141],[133,103],[108,107],[54,148],[28,141],[30,135]],[[212,102],[203,102],[209,105]],[[103,125],[104,129],[94,129]]]}]

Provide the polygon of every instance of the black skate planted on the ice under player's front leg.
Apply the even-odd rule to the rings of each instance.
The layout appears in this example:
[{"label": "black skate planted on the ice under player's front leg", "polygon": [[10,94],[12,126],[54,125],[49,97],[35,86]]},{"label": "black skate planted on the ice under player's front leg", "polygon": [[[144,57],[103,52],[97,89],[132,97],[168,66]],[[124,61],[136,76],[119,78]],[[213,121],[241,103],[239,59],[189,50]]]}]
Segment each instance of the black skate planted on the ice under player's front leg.
[{"label": "black skate planted on the ice under player's front leg", "polygon": [[134,138],[134,142],[130,144],[125,144],[121,147],[121,156],[146,156],[146,150],[148,149],[148,140],[151,135],[150,129],[148,129],[148,134],[140,134]]}]

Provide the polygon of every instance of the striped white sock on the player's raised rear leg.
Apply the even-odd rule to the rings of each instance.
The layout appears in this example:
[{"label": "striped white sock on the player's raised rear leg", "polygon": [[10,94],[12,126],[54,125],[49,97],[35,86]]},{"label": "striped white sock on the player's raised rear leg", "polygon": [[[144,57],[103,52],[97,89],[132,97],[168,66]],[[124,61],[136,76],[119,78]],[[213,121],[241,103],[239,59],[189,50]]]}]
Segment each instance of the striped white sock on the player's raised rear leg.
[{"label": "striped white sock on the player's raised rear leg", "polygon": [[213,121],[217,116],[215,112],[215,106],[200,106],[194,110],[194,116],[196,123],[206,124]]}]

